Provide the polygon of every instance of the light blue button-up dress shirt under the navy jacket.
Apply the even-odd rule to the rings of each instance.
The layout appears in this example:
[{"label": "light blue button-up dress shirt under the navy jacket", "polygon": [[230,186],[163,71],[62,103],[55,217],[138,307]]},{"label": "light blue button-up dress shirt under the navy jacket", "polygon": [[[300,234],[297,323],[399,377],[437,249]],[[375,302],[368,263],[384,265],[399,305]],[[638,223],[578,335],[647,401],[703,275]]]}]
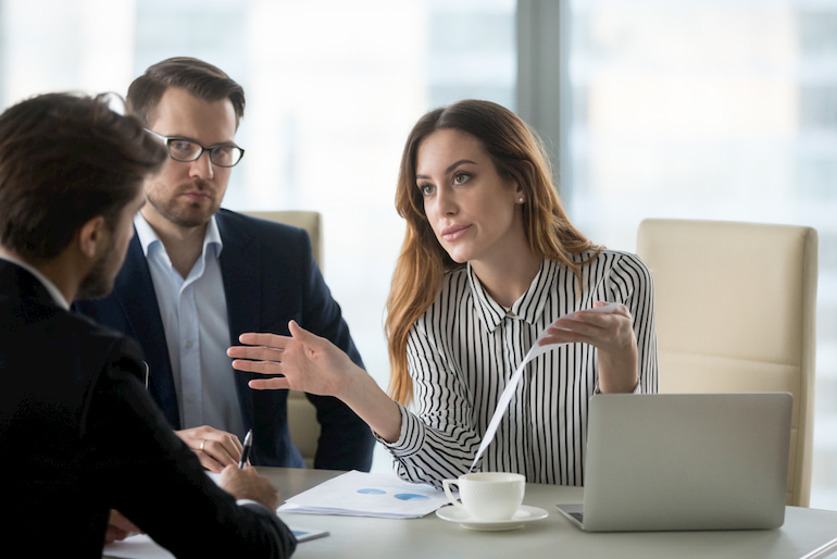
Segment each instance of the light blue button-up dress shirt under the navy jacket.
[{"label": "light blue button-up dress shirt under the navy jacket", "polygon": [[227,357],[229,323],[218,257],[223,248],[213,216],[203,251],[184,278],[141,213],[134,220],[151,271],[172,362],[183,428],[210,425],[245,438],[235,371]]}]

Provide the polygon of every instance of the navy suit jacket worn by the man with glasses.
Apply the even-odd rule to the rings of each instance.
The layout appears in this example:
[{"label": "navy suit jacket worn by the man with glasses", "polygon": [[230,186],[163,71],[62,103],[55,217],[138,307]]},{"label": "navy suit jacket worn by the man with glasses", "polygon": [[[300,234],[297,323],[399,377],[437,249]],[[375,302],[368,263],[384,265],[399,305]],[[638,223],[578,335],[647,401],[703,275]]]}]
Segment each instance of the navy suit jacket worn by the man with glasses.
[{"label": "navy suit jacket worn by the man with glasses", "polygon": [[[288,335],[288,322],[293,319],[363,367],[340,307],[311,254],[308,233],[227,210],[215,216],[224,243],[220,263],[230,345],[238,345],[238,336],[246,332]],[[182,428],[163,322],[137,235],[111,296],[77,301],[75,309],[139,340],[150,370],[149,392],[172,426]],[[232,365],[229,371],[236,377],[245,428],[253,430],[251,462],[304,468],[288,432],[287,390],[253,390],[247,382],[254,375],[236,372]],[[308,397],[322,426],[314,467],[368,471],[374,446],[368,426],[336,398]]]}]

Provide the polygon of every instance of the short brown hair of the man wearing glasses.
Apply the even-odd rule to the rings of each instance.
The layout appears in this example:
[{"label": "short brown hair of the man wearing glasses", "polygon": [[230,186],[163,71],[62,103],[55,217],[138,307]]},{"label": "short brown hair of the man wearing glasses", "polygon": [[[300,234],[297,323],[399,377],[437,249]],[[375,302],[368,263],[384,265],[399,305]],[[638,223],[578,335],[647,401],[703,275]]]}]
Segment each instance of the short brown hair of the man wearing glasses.
[{"label": "short brown hair of the man wearing glasses", "polygon": [[221,69],[188,57],[176,57],[158,62],[146,70],[128,87],[128,112],[149,126],[163,94],[170,87],[179,87],[204,101],[229,99],[236,113],[236,126],[245,116],[245,90]]}]

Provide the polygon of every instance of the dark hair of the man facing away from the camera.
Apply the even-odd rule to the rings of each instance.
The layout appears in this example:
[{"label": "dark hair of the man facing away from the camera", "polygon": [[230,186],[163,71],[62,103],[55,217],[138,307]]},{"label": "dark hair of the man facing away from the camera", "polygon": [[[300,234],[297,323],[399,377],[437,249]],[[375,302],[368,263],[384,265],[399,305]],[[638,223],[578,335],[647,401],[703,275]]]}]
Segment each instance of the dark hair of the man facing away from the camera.
[{"label": "dark hair of the man facing away from the camera", "polygon": [[114,97],[47,94],[0,115],[0,245],[55,258],[97,215],[113,228],[162,166],[165,147],[111,110]]}]

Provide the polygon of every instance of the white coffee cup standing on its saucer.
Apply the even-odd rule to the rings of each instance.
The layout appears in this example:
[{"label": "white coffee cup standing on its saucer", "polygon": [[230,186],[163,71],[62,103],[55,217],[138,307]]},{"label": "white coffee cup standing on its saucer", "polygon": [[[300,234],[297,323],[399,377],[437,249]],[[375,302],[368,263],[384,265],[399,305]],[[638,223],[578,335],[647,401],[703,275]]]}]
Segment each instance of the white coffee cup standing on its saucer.
[{"label": "white coffee cup standing on its saucer", "polygon": [[[450,502],[474,520],[509,520],[523,502],[526,477],[519,473],[479,472],[441,482]],[[459,487],[460,502],[451,492]]]}]

